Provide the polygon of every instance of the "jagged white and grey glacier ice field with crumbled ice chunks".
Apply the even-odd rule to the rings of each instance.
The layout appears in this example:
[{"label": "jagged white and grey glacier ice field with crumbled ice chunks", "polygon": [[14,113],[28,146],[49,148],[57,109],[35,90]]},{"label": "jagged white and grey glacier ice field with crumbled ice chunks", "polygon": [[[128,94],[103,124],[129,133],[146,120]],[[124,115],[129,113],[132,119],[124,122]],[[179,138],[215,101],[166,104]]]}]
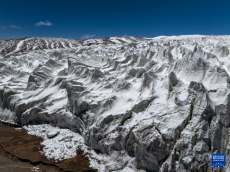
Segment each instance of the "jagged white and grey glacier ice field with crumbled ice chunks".
[{"label": "jagged white and grey glacier ice field with crumbled ice chunks", "polygon": [[102,172],[212,171],[213,153],[230,160],[229,48],[230,36],[0,40],[0,119],[43,137],[47,157],[82,149]]}]

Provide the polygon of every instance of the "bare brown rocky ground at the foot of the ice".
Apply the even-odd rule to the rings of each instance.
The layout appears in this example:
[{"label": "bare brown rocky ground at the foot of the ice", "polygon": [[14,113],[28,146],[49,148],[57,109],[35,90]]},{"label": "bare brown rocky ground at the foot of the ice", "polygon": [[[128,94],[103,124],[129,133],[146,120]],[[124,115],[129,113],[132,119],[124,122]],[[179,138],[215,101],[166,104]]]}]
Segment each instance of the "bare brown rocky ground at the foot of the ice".
[{"label": "bare brown rocky ground at the foot of the ice", "polygon": [[[40,151],[42,138],[27,134],[25,129],[0,123],[0,171],[4,172],[96,172],[81,150],[64,161],[48,159]],[[77,168],[76,168],[77,167]]]}]

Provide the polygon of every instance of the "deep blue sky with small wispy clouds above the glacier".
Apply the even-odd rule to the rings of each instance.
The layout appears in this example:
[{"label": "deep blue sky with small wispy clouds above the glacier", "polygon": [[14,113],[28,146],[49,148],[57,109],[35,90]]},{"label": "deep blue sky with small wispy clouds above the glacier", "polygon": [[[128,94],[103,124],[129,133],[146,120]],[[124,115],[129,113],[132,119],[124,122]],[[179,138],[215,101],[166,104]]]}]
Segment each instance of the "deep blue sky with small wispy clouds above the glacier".
[{"label": "deep blue sky with small wispy clouds above the glacier", "polygon": [[0,39],[230,35],[229,0],[0,0]]}]

